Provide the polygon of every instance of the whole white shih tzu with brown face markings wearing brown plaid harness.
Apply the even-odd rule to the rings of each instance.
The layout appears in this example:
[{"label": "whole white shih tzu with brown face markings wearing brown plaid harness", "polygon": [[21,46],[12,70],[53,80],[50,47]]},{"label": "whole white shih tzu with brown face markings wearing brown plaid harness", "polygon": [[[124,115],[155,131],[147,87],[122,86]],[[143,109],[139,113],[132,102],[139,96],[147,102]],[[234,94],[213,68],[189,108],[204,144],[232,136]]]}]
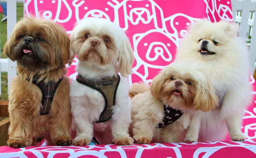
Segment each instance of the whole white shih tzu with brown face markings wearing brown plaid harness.
[{"label": "whole white shih tzu with brown face markings wearing brown plaid harness", "polygon": [[70,90],[77,131],[73,144],[87,145],[93,136],[99,144],[133,144],[125,77],[132,72],[134,56],[125,32],[107,19],[86,18],[73,29],[70,49],[79,59]]}]

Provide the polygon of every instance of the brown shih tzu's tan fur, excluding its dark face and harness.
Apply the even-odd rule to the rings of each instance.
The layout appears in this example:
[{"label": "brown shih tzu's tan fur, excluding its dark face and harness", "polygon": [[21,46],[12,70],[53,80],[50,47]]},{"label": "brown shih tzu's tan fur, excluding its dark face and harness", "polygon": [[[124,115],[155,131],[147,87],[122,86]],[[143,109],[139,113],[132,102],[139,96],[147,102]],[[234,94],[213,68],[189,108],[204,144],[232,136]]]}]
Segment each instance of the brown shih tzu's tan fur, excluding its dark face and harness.
[{"label": "brown shih tzu's tan fur, excluding its dark face and harness", "polygon": [[[14,58],[13,48],[21,41],[17,38],[20,32],[32,35],[40,32],[44,36],[48,43],[40,43],[40,47],[46,51],[44,58],[50,64],[45,69],[37,70],[17,64],[18,76],[10,84],[10,128],[7,143],[10,147],[20,148],[35,145],[37,138],[46,138],[48,145],[70,145],[70,82],[69,77],[65,76],[65,64],[71,64],[74,56],[69,53],[69,36],[61,26],[50,20],[26,17],[16,24],[10,40],[4,46],[4,53],[14,61],[18,60]],[[57,82],[64,76],[47,115],[39,115],[42,92],[32,84],[34,75],[38,75],[39,80],[45,83]]]}]

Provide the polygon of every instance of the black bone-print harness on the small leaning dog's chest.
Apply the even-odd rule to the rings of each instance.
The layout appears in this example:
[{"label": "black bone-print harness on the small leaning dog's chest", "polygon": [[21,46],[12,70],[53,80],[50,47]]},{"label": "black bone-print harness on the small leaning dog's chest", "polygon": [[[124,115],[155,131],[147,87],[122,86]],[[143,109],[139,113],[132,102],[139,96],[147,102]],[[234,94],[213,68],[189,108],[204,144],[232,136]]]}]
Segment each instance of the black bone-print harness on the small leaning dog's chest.
[{"label": "black bone-print harness on the small leaning dog's chest", "polygon": [[180,110],[173,109],[170,106],[166,106],[165,104],[163,104],[163,110],[163,123],[159,123],[155,128],[162,128],[169,124],[172,124],[173,122],[178,120],[183,114],[183,112],[181,112]]}]

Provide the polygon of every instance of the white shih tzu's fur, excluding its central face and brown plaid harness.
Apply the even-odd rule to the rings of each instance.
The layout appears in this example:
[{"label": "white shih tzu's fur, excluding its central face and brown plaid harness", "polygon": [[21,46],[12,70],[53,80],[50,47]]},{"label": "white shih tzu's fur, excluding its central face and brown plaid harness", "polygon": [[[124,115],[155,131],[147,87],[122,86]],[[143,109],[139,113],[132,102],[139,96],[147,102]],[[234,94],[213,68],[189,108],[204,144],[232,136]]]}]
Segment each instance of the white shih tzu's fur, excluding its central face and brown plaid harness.
[{"label": "white shih tzu's fur, excluding its central face and brown plaid harness", "polygon": [[[131,74],[134,61],[129,39],[125,32],[112,22],[106,19],[87,18],[81,20],[71,34],[71,51],[77,55],[82,54],[89,46],[87,40],[80,42],[83,45],[78,48],[74,45],[76,39],[81,38],[81,34],[83,36],[86,32],[90,32],[91,36],[93,36],[91,38],[98,39],[100,42],[104,42],[101,39],[102,36],[108,36],[111,38],[112,46],[115,47],[113,50],[115,51],[112,52],[107,64],[99,64],[97,60],[79,61],[77,72],[83,77],[92,80],[114,76],[118,71],[122,76],[120,76],[121,80],[117,89],[116,102],[113,106],[113,116],[107,124],[94,123],[99,119],[105,107],[105,101],[101,93],[80,84],[76,80],[71,82],[71,110],[77,130],[77,136],[73,143],[87,145],[94,135],[100,144],[112,144],[114,139],[115,144],[131,145],[133,139],[128,134],[131,122],[131,102],[128,96],[129,83],[125,78],[128,74]],[[103,56],[104,53],[105,55],[109,53],[104,45],[99,49],[101,49],[99,53],[103,54]]]}]

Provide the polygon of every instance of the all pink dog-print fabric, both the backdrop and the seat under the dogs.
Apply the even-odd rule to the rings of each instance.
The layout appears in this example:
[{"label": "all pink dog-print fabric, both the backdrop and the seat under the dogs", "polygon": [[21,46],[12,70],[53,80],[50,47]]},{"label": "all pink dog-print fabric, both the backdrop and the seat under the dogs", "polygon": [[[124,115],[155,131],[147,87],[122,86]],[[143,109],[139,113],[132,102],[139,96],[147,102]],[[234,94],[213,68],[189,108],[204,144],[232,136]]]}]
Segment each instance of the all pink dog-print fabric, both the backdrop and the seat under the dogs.
[{"label": "all pink dog-print fabric, both the backdrop and the seat under the dogs", "polygon": [[[70,34],[76,21],[86,17],[104,17],[127,31],[135,54],[130,84],[151,79],[161,68],[173,61],[179,39],[187,33],[190,23],[208,18],[232,20],[231,0],[26,0],[25,13],[38,12],[52,18]],[[68,75],[75,79],[75,58]],[[250,76],[251,84],[255,80]],[[256,92],[252,92],[256,94]],[[234,98],[235,99],[235,98]],[[27,147],[12,149],[0,147],[0,158],[38,157],[66,158],[69,156],[93,157],[256,157],[256,97],[245,111],[242,131],[246,142],[167,143],[134,146],[99,145],[84,147]],[[254,140],[255,139],[255,140]],[[214,147],[214,148],[212,148]],[[94,150],[94,152],[90,152]],[[111,151],[111,152],[110,152]],[[1,155],[2,152],[2,155]],[[3,154],[4,153],[4,154]],[[156,155],[157,154],[157,155]],[[87,156],[85,156],[87,155]],[[1,157],[2,156],[2,157]]]}]

